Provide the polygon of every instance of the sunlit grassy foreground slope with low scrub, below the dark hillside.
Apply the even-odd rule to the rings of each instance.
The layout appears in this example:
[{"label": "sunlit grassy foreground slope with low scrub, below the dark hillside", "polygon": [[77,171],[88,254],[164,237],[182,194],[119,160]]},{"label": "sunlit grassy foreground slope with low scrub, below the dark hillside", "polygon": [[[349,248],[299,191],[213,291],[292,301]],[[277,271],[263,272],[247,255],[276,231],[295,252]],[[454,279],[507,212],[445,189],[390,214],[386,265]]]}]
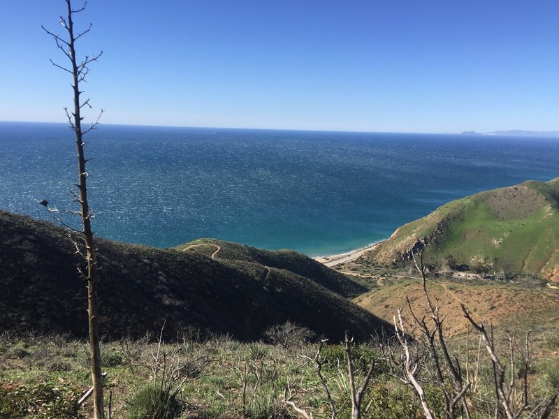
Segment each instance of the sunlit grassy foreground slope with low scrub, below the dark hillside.
[{"label": "sunlit grassy foreground slope with low scrub, below the dark hillside", "polygon": [[[546,351],[558,335],[536,335],[533,353]],[[339,339],[338,339],[339,341]],[[470,372],[474,374],[477,336],[470,336]],[[463,338],[451,342],[452,355],[465,356]],[[24,348],[25,351],[14,348]],[[506,346],[502,346],[506,351]],[[556,351],[556,348],[553,348]],[[286,395],[314,418],[330,418],[331,411],[317,369],[310,359],[317,344],[284,348],[263,342],[243,343],[224,336],[193,340],[180,335],[174,341],[159,341],[153,335],[142,339],[106,341],[101,345],[106,403],[112,399],[115,418],[297,418],[282,402]],[[159,353],[159,357],[158,354]],[[376,346],[354,346],[356,379],[361,381],[372,359],[377,367],[365,391],[364,418],[421,417],[421,406],[412,390],[391,373]],[[19,355],[16,355],[19,354]],[[322,374],[331,391],[338,418],[348,418],[349,380],[340,344],[326,346]],[[536,406],[540,398],[555,388],[557,357],[538,355],[530,377]],[[308,358],[307,358],[308,357]],[[490,362],[481,353],[481,369],[472,390],[472,418],[493,417]],[[64,365],[62,368],[53,365]],[[464,364],[465,365],[465,364]],[[165,372],[165,373],[164,373]],[[77,401],[89,388],[87,344],[63,335],[0,336],[0,418],[80,418],[92,409],[87,400],[79,411]],[[440,391],[433,372],[420,369],[421,383],[437,417],[442,415]],[[176,393],[175,393],[176,391]],[[554,415],[554,416],[553,416]],[[552,418],[559,417],[556,407]],[[528,417],[528,416],[525,416]]]}]

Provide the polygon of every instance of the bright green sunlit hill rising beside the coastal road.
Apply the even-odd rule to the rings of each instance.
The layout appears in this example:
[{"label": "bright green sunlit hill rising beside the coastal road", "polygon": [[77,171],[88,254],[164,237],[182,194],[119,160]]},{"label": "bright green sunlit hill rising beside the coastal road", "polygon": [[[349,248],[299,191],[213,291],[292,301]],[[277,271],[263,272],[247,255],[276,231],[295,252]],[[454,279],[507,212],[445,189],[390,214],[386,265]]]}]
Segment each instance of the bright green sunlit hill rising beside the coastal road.
[{"label": "bright green sunlit hill rising beside the coastal road", "polygon": [[364,257],[404,265],[423,248],[427,263],[439,267],[559,281],[559,178],[454,200],[398,228]]}]

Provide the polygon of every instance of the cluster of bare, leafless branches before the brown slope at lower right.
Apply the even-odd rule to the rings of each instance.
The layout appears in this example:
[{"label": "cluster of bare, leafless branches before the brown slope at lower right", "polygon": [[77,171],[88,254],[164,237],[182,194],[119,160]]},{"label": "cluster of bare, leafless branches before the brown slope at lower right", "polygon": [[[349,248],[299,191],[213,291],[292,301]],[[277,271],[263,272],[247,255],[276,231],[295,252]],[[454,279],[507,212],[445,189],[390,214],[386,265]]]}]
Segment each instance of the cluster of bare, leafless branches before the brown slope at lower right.
[{"label": "cluster of bare, leafless branches before the brown slope at lower right", "polygon": [[[548,418],[553,411],[556,399],[559,397],[559,383],[553,383],[553,390],[549,399],[544,399],[535,405],[535,392],[530,390],[529,374],[532,369],[532,346],[530,332],[526,333],[523,343],[519,343],[516,332],[506,331],[509,342],[508,356],[500,356],[495,351],[493,329],[488,332],[484,323],[477,323],[472,318],[465,304],[460,304],[467,322],[473,326],[480,336],[477,351],[477,372],[470,381],[470,367],[467,364],[465,374],[460,366],[458,357],[451,356],[444,337],[444,316],[440,314],[439,302],[433,299],[426,285],[426,269],[423,265],[421,253],[419,261],[412,253],[417,270],[421,273],[423,295],[426,301],[426,316],[418,316],[412,303],[406,298],[412,320],[406,321],[402,316],[402,309],[398,309],[398,316],[394,316],[395,336],[398,348],[391,345],[381,346],[386,359],[391,362],[393,375],[403,383],[409,385],[416,393],[423,415],[434,418],[433,405],[426,398],[424,390],[425,372],[434,376],[432,383],[436,383],[441,390],[444,401],[444,417],[453,419],[461,414],[463,418],[470,418],[470,407],[473,406],[472,391],[479,380],[479,360],[481,345],[486,347],[493,370],[491,387],[494,389],[493,415],[495,418],[518,419],[521,417]],[[466,337],[468,339],[468,337]],[[466,346],[466,360],[469,358],[469,346]],[[503,363],[502,359],[508,358]],[[508,367],[508,371],[507,371]],[[395,372],[394,372],[395,369]],[[472,383],[474,390],[472,390]],[[458,407],[462,409],[459,411]],[[528,409],[532,411],[529,412]]]}]

